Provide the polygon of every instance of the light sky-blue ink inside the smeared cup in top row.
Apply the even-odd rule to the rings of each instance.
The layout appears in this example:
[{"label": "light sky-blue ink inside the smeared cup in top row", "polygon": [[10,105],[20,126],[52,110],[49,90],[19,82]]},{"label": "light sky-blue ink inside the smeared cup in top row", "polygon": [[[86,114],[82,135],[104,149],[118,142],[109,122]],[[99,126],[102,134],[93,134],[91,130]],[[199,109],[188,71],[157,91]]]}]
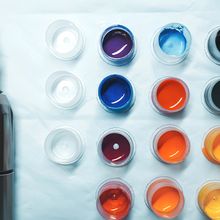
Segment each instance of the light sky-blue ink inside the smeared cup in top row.
[{"label": "light sky-blue ink inside the smeared cup in top row", "polygon": [[166,28],[159,35],[160,48],[168,55],[182,55],[186,49],[186,44],[182,30]]}]

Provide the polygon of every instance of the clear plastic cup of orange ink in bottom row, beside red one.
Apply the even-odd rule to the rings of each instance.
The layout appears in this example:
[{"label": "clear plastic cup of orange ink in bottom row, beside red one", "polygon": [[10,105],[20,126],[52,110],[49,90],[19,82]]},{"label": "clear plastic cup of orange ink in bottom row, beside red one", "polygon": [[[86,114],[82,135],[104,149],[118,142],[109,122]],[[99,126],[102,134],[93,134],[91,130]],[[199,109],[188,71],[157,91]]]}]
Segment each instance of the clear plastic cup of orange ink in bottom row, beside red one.
[{"label": "clear plastic cup of orange ink in bottom row, beside red one", "polygon": [[147,186],[145,202],[158,217],[172,219],[180,215],[184,207],[184,195],[176,180],[159,177]]}]

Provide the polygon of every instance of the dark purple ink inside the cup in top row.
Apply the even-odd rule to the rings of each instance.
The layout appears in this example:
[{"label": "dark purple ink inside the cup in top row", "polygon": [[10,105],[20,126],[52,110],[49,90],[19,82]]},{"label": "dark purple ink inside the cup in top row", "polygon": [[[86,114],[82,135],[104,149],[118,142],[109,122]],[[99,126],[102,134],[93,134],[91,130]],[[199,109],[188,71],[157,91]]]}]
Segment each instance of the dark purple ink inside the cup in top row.
[{"label": "dark purple ink inside the cup in top row", "polygon": [[102,42],[104,52],[112,58],[123,58],[133,47],[131,36],[121,29],[108,32]]}]

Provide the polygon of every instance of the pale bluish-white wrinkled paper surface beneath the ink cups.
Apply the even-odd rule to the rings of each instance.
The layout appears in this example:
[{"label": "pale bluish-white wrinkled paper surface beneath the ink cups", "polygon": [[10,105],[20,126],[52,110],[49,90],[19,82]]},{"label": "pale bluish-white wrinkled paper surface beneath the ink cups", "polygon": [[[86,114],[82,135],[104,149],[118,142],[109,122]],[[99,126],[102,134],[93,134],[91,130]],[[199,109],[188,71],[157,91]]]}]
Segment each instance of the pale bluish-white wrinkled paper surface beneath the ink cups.
[{"label": "pale bluish-white wrinkled paper surface beneath the ink cups", "polygon": [[[220,71],[206,57],[204,41],[208,31],[220,24],[220,2],[1,3],[1,88],[12,104],[16,123],[16,220],[101,219],[96,211],[95,192],[102,181],[113,177],[123,178],[134,189],[135,202],[129,219],[155,220],[158,218],[145,206],[144,190],[149,181],[160,175],[176,178],[183,187],[186,205],[178,219],[203,219],[196,207],[196,191],[206,180],[219,178],[219,167],[204,158],[201,145],[204,134],[220,122],[201,103],[204,85]],[[76,61],[60,61],[46,48],[46,28],[56,19],[69,19],[84,33],[85,51]],[[159,64],[151,53],[155,31],[170,22],[186,25],[193,39],[188,59],[176,66]],[[138,44],[135,59],[125,67],[110,66],[98,54],[101,32],[117,23],[129,27]],[[46,79],[58,70],[76,74],[85,84],[86,99],[79,109],[62,111],[47,99]],[[127,115],[107,113],[98,104],[98,84],[112,73],[128,77],[135,86],[136,103]],[[165,117],[153,110],[149,100],[151,87],[164,76],[180,77],[188,84],[191,97],[184,114]],[[181,127],[190,138],[191,153],[183,165],[165,165],[151,154],[152,135],[166,124]],[[63,167],[48,161],[44,140],[50,130],[68,125],[81,133],[86,151],[80,164]],[[136,142],[136,155],[126,167],[108,167],[98,158],[98,138],[111,127],[128,130]]]}]

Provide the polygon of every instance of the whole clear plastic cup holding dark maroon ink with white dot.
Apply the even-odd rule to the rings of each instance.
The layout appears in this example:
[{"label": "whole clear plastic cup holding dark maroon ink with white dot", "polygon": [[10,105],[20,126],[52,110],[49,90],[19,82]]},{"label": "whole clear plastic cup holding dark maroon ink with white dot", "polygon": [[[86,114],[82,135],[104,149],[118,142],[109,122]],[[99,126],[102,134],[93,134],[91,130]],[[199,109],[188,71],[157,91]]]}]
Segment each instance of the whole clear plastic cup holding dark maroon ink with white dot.
[{"label": "whole clear plastic cup holding dark maroon ink with white dot", "polygon": [[104,132],[98,142],[98,154],[110,166],[128,164],[135,153],[135,143],[131,135],[122,129],[112,128]]}]

